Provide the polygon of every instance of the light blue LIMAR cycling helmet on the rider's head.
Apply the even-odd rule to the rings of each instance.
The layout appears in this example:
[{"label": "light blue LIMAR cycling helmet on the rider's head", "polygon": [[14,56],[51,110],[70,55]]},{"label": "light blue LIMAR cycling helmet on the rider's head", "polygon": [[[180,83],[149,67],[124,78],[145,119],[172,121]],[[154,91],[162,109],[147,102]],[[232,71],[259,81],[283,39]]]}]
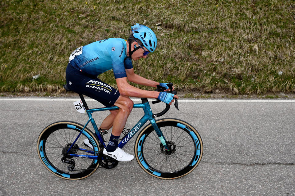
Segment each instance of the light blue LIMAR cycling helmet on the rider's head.
[{"label": "light blue LIMAR cycling helmet on the rider's head", "polygon": [[157,37],[150,28],[136,23],[136,25],[131,27],[131,31],[133,36],[139,39],[143,43],[143,46],[148,49],[148,51],[155,51],[157,47]]}]

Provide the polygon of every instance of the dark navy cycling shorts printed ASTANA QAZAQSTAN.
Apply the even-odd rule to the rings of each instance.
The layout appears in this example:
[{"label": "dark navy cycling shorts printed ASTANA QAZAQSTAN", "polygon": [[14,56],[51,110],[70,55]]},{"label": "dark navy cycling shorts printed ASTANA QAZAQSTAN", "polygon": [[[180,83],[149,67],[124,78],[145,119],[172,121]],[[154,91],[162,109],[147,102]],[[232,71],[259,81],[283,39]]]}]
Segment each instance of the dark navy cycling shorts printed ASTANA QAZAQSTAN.
[{"label": "dark navy cycling shorts printed ASTANA QAZAQSTAN", "polygon": [[65,74],[70,90],[95,99],[106,107],[113,106],[120,96],[117,89],[104,83],[96,76],[79,71],[70,63],[67,66]]}]

